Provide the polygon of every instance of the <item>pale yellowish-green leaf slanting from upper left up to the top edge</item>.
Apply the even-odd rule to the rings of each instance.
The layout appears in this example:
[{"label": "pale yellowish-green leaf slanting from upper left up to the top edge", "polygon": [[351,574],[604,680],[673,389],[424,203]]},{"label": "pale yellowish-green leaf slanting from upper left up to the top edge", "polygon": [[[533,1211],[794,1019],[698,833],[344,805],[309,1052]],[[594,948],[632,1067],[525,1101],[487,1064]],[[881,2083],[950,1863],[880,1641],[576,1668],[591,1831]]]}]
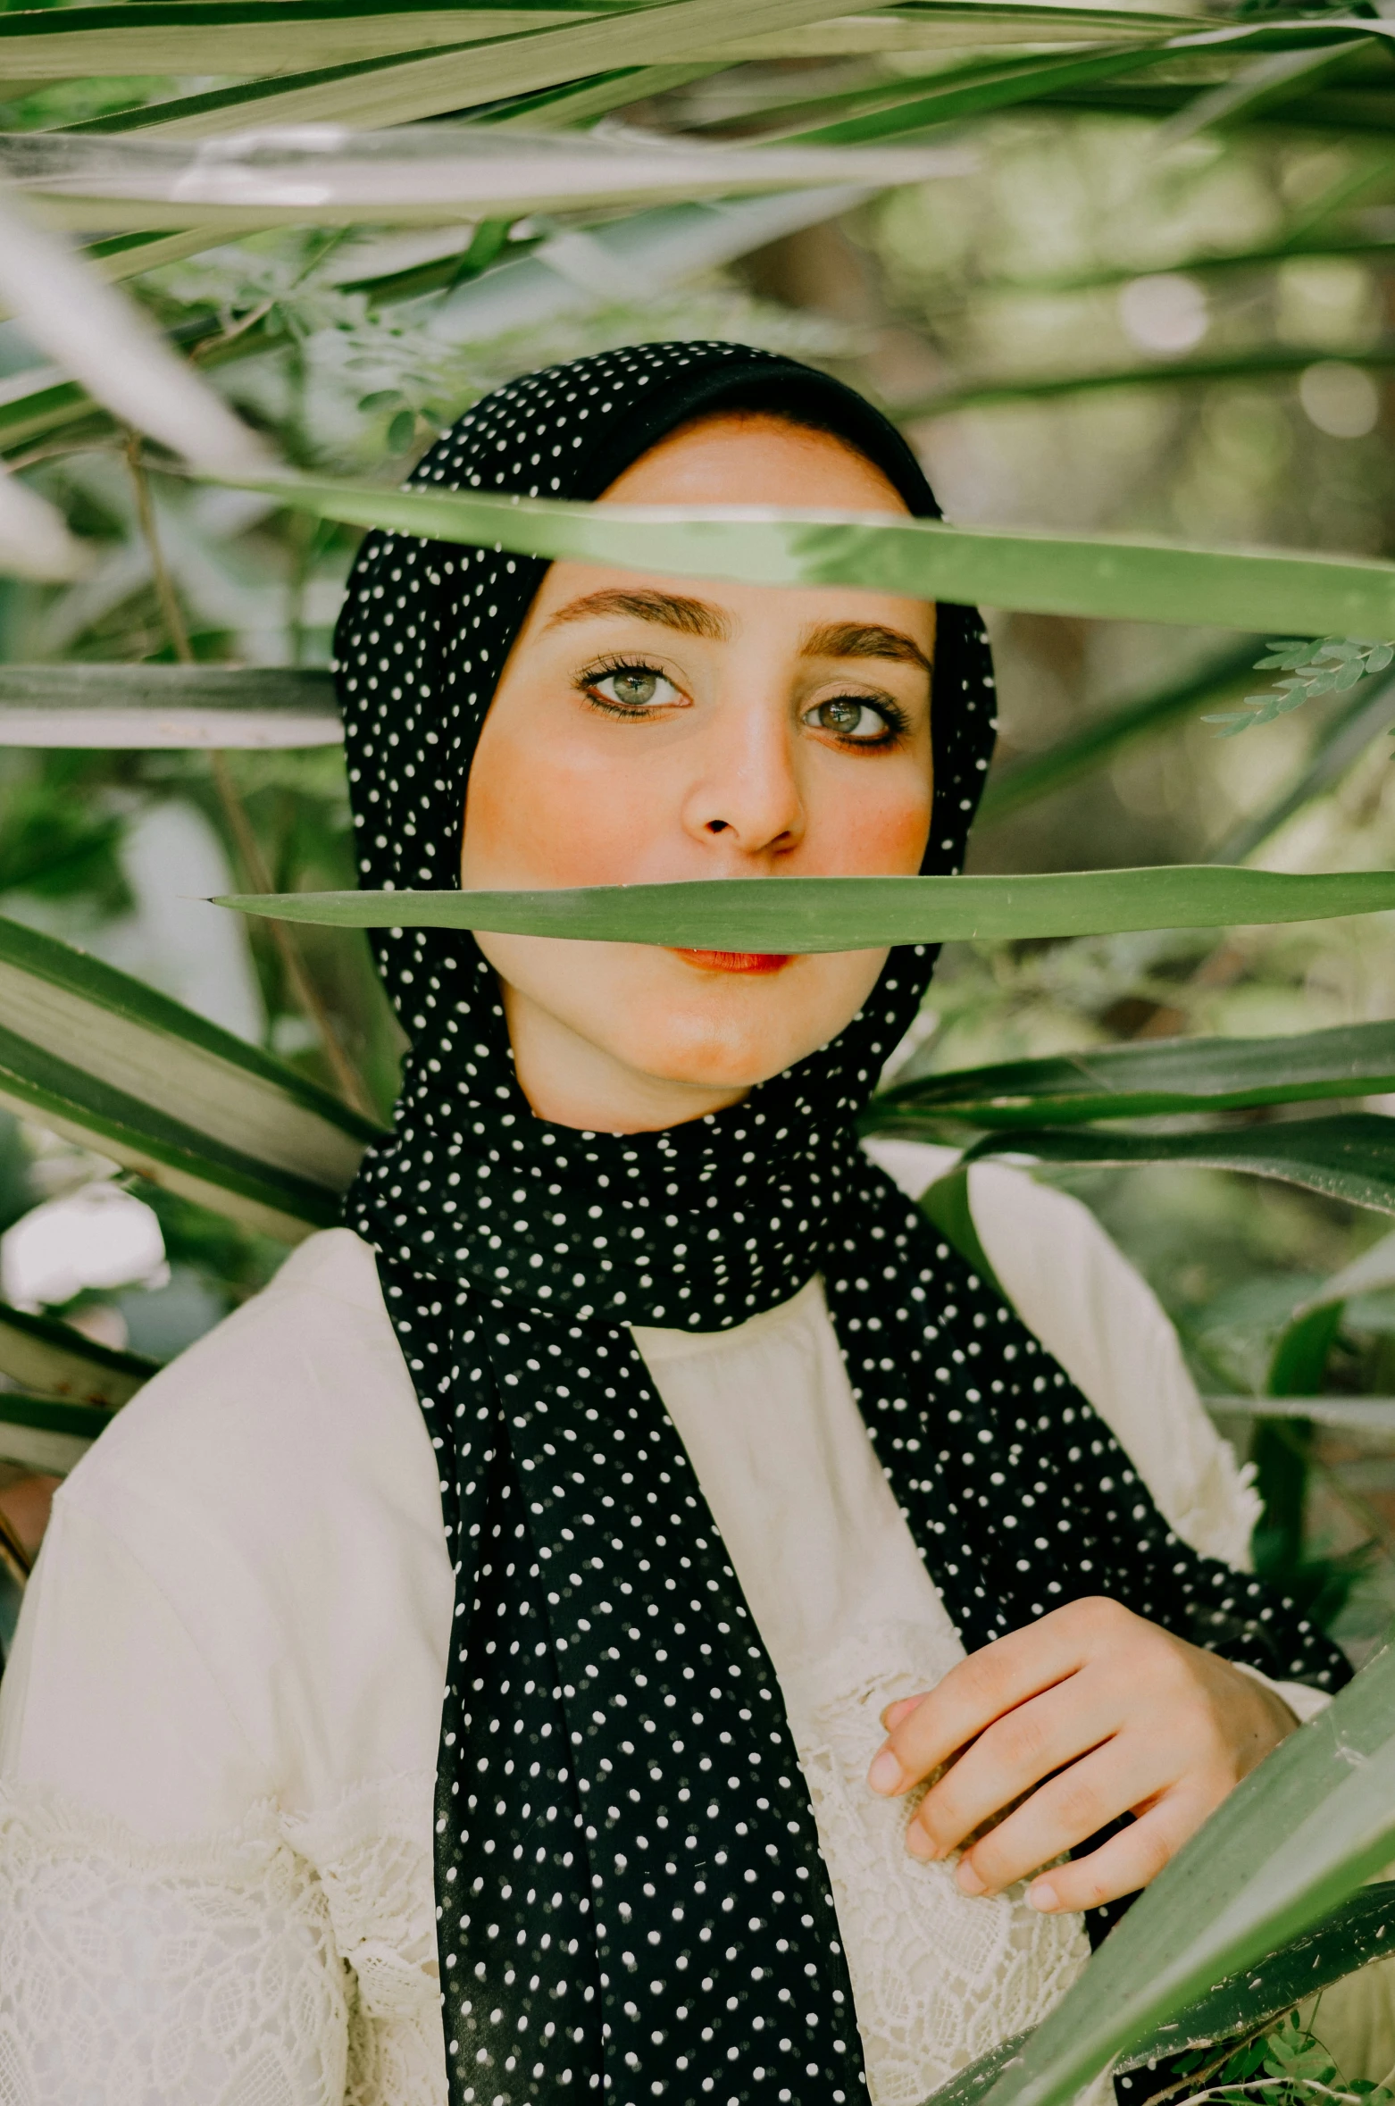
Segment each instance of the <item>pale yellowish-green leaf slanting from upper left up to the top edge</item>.
[{"label": "pale yellowish-green leaf slanting from upper left up to the top edge", "polygon": [[74,124],[72,131],[152,131],[204,139],[249,124],[386,128],[504,95],[529,95],[615,65],[668,65],[735,36],[794,29],[841,13],[845,0],[660,0],[561,29],[525,29],[464,46],[365,59],[354,65],[215,88]]}]

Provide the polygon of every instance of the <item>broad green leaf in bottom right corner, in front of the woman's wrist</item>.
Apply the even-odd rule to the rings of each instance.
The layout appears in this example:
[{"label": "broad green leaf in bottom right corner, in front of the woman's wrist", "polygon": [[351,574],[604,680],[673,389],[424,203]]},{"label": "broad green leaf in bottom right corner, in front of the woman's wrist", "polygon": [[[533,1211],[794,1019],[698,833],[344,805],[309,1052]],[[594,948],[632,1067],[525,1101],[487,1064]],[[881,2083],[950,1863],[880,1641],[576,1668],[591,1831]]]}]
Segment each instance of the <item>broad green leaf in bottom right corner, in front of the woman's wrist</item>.
[{"label": "broad green leaf in bottom right corner, in front of the woman's wrist", "polygon": [[1220,1980],[1321,1923],[1389,1862],[1393,1841],[1395,1653],[1387,1651],[1212,1813],[986,2100],[1066,2106]]}]

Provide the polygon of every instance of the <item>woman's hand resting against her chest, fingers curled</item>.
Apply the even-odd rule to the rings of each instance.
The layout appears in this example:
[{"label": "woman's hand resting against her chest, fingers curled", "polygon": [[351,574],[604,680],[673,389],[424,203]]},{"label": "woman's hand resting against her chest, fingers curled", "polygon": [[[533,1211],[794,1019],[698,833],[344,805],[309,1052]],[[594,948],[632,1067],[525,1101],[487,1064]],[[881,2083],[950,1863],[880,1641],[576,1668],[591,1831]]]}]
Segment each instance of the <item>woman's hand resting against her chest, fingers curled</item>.
[{"label": "woman's hand resting against her chest, fingers curled", "polygon": [[997,1893],[1119,1813],[1138,1815],[1033,1883],[1033,1908],[1056,1910],[1146,1887],[1298,1721],[1226,1660],[1092,1596],[969,1653],[931,1695],[891,1704],[881,1723],[875,1792],[908,1792],[952,1765],[910,1820],[912,1857],[948,1857],[1014,1807],[963,1851],[965,1893]]}]

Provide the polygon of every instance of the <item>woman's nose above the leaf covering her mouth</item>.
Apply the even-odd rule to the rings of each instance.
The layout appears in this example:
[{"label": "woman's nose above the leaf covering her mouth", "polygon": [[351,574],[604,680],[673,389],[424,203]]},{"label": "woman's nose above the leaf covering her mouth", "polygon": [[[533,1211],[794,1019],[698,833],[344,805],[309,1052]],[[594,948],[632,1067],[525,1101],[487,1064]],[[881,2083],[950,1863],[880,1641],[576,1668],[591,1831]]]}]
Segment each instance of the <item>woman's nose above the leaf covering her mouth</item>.
[{"label": "woman's nose above the leaf covering her mouth", "polygon": [[782,708],[746,701],[714,712],[683,823],[742,861],[799,847],[807,815]]}]

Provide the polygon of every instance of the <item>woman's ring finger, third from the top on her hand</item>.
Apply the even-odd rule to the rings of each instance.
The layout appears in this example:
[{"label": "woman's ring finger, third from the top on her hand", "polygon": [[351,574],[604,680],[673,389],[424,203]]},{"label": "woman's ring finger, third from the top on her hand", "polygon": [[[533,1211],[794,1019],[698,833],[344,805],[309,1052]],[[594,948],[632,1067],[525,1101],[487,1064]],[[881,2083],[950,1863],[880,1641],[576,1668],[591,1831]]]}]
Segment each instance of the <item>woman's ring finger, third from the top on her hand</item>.
[{"label": "woman's ring finger, third from the top on her hand", "polygon": [[[1176,1761],[1157,1742],[1117,1735],[1049,1777],[1020,1807],[980,1836],[959,1862],[965,1893],[999,1893],[1016,1879],[1075,1849],[1108,1822],[1148,1805],[1178,1782]],[[915,1824],[912,1824],[915,1828]],[[910,1847],[910,1832],[906,1836]],[[1125,1889],[1127,1891],[1127,1889]]]}]

